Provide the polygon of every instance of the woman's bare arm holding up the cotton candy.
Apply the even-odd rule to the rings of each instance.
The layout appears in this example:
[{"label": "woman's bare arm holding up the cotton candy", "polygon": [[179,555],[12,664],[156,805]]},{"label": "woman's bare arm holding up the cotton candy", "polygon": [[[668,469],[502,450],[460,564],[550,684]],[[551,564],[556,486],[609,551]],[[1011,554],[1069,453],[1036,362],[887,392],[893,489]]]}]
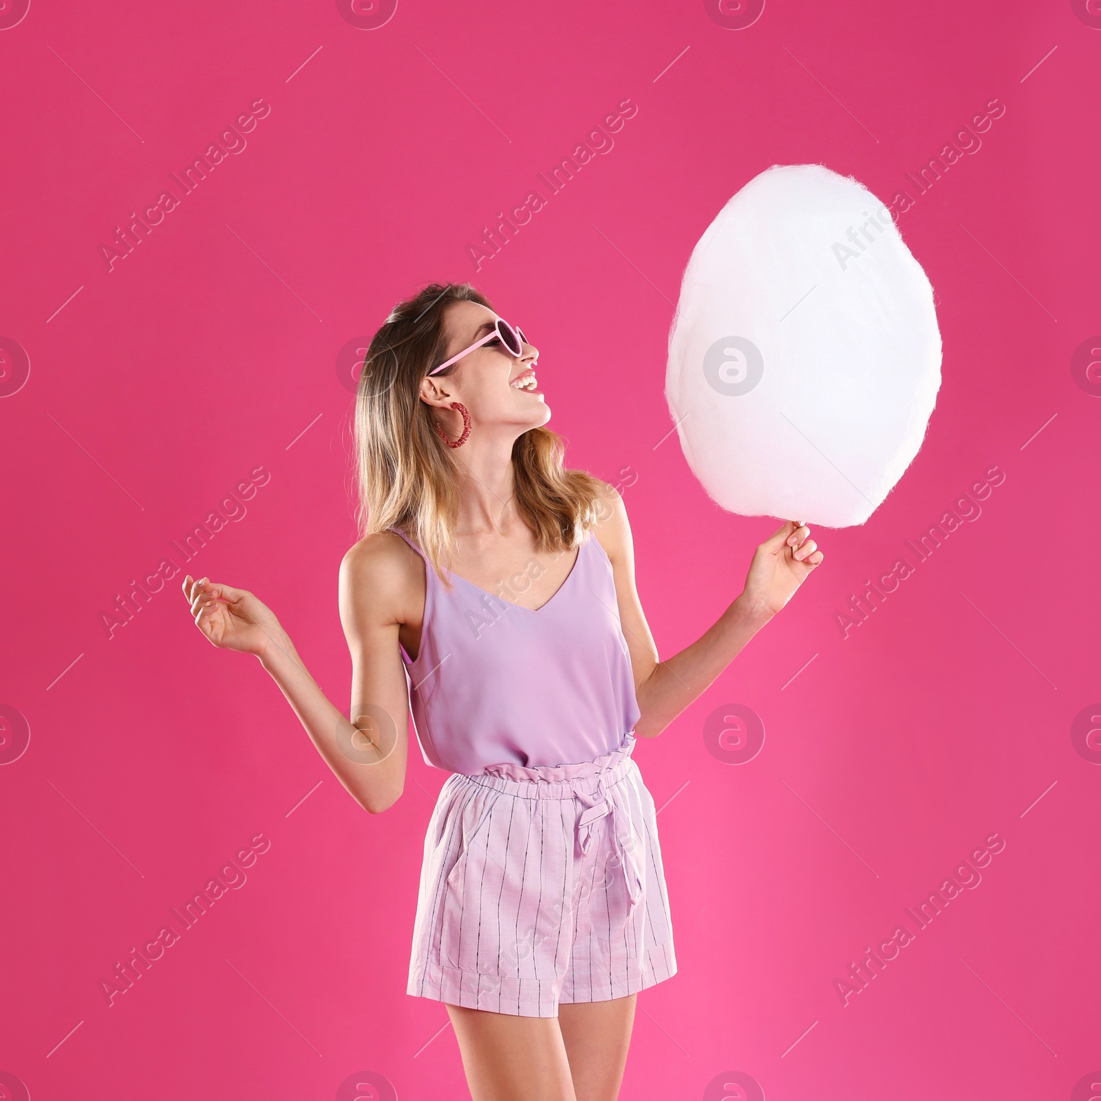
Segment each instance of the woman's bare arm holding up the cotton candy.
[{"label": "woman's bare arm holding up the cotton candy", "polygon": [[787,603],[822,560],[822,553],[807,538],[805,525],[787,521],[756,548],[744,590],[718,621],[663,662],[635,587],[634,544],[623,498],[610,486],[604,492],[608,509],[595,532],[612,563],[620,622],[631,653],[641,712],[634,729],[640,738],[656,738]]}]

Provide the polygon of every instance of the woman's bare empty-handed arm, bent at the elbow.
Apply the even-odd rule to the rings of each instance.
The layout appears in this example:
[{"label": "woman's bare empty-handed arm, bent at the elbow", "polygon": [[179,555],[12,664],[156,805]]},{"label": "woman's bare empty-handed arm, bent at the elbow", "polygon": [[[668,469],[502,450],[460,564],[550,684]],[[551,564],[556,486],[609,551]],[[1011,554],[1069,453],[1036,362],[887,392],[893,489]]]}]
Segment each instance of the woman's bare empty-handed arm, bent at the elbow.
[{"label": "woman's bare empty-handed arm, bent at the elbow", "polygon": [[397,631],[408,601],[410,571],[388,538],[362,541],[340,566],[340,617],[352,657],[352,721],[325,696],[279,620],[257,597],[206,578],[184,580],[184,595],[207,639],[260,659],[326,764],[372,814],[402,794],[408,742]]}]

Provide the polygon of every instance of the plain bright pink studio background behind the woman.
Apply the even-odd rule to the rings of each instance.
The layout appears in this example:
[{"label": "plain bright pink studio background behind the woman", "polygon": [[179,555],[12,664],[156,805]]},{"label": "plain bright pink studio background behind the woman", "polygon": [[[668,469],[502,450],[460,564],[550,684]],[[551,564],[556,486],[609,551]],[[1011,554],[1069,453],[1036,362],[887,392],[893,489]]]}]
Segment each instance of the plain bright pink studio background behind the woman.
[{"label": "plain bright pink studio background behind the woman", "polygon": [[[701,2],[402,0],[358,29],[321,0],[34,0],[0,31],[0,388],[11,341],[30,358],[0,401],[0,1095],[326,1099],[368,1071],[467,1095],[443,1005],[404,992],[444,774],[414,753],[369,816],[258,663],[201,640],[178,578],[113,637],[101,615],[173,558],[268,601],[346,706],[338,352],[422,283],[469,279],[538,345],[570,465],[624,487],[675,653],[776,522],[721,512],[658,444],[673,302],[722,204],[807,162],[916,199],[900,226],[944,385],[883,506],[817,531],[820,571],[639,746],[680,970],[640,996],[622,1095],[1070,1098],[1101,1067],[1101,380],[1071,371],[1101,331],[1091,2],[800,0],[731,29]],[[476,270],[482,227],[625,98],[614,148]],[[994,98],[981,150],[907,186]],[[170,173],[258,99],[247,145],[184,195]],[[101,246],[166,189],[178,207],[109,271]],[[904,541],[991,466],[981,517],[918,564]],[[184,563],[171,541],[218,508],[236,520]],[[913,576],[842,637],[835,613],[901,556]],[[705,737],[734,708],[765,730],[738,765]],[[981,883],[918,929],[904,907],[993,833]],[[247,882],[183,931],[170,907],[258,835]],[[100,980],[166,924],[179,941],[109,1006]],[[835,980],[900,924],[913,942],[843,1004]]]}]

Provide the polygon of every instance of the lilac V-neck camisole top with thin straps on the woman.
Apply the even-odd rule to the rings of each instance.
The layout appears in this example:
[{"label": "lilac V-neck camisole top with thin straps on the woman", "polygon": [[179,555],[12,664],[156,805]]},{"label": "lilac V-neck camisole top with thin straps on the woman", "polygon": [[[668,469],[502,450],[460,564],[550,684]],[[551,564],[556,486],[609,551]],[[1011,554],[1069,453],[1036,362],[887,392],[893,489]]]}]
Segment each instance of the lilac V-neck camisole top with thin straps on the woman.
[{"label": "lilac V-neck camisole top with thin straps on the woman", "polygon": [[425,761],[475,775],[487,765],[593,761],[639,721],[612,564],[591,532],[558,591],[533,611],[425,564],[421,648],[402,646]]}]

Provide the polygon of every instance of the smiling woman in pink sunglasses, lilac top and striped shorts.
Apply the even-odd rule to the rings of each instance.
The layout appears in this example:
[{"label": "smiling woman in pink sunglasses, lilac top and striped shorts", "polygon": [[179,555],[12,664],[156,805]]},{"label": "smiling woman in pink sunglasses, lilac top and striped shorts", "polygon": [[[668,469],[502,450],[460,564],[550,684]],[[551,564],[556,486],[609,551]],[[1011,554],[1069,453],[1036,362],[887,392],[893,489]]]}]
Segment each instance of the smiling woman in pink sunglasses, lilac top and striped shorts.
[{"label": "smiling woman in pink sunglasses, lilac top and striped shorts", "polygon": [[822,560],[788,521],[744,591],[662,662],[622,498],[563,468],[538,350],[469,284],[375,334],[356,407],[361,538],[340,568],[352,719],[275,615],[184,581],[216,646],[255,654],[327,764],[378,814],[402,794],[412,705],[451,773],[425,838],[407,992],[447,1004],[476,1101],[611,1101],[640,990],[676,972],[655,738]]}]

